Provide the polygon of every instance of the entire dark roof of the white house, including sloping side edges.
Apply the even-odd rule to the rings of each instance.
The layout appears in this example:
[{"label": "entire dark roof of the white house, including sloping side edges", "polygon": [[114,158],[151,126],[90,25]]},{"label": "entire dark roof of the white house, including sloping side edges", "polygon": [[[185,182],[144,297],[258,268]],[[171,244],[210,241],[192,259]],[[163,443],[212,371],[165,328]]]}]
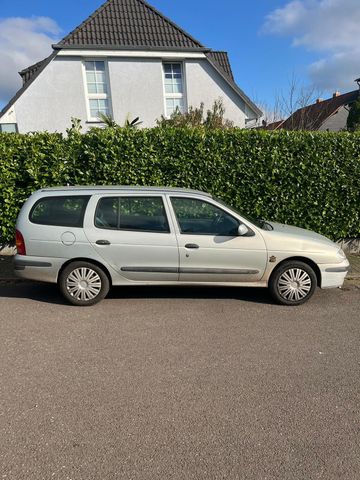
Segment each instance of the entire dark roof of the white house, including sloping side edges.
[{"label": "entire dark roof of the white house, including sloping side edges", "polygon": [[227,52],[212,51],[144,0],[107,0],[59,43],[44,60],[20,73],[22,88],[0,112],[15,103],[62,49],[126,49],[203,52],[209,63],[260,117],[261,110],[235,83]]}]

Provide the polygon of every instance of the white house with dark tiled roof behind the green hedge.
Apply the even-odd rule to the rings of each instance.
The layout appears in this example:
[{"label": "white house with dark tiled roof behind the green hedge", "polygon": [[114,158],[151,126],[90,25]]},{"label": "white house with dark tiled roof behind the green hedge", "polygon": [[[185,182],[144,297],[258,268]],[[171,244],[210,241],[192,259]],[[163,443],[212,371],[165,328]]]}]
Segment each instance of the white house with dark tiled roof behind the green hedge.
[{"label": "white house with dark tiled roof behind the green hedge", "polygon": [[89,128],[99,112],[144,127],[179,107],[221,98],[244,127],[261,116],[234,81],[226,52],[205,48],[144,0],[107,0],[52,54],[20,72],[23,86],[0,113],[0,131],[65,132],[71,117]]}]

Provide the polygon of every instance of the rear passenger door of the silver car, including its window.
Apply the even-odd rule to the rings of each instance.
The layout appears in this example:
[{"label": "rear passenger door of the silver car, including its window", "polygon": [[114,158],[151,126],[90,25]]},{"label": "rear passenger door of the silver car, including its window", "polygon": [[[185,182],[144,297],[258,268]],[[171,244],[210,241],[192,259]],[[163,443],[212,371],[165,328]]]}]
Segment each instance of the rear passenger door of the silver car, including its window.
[{"label": "rear passenger door of the silver car, including its window", "polygon": [[162,195],[94,195],[85,233],[122,277],[139,282],[177,281],[179,253]]}]

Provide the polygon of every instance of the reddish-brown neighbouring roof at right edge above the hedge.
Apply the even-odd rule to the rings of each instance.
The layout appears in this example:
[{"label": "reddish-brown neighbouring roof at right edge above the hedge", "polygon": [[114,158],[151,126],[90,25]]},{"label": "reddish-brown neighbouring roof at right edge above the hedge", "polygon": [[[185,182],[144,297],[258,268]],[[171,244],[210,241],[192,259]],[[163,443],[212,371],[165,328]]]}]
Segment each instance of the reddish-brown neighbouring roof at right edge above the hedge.
[{"label": "reddish-brown neighbouring roof at right edge above the hedge", "polygon": [[339,108],[355,102],[358,97],[359,90],[354,90],[300,108],[285,120],[281,128],[284,130],[318,130],[325,120],[334,115]]}]

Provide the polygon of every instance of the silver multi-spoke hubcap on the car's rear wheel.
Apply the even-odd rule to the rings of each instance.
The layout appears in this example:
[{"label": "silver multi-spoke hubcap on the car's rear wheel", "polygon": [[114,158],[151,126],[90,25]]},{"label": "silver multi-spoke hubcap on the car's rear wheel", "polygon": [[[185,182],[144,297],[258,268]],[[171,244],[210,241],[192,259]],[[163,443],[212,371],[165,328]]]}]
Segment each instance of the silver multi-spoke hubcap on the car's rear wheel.
[{"label": "silver multi-spoke hubcap on the car's rear wheel", "polygon": [[91,268],[76,268],[66,279],[66,289],[77,300],[89,301],[99,295],[101,278]]}]

